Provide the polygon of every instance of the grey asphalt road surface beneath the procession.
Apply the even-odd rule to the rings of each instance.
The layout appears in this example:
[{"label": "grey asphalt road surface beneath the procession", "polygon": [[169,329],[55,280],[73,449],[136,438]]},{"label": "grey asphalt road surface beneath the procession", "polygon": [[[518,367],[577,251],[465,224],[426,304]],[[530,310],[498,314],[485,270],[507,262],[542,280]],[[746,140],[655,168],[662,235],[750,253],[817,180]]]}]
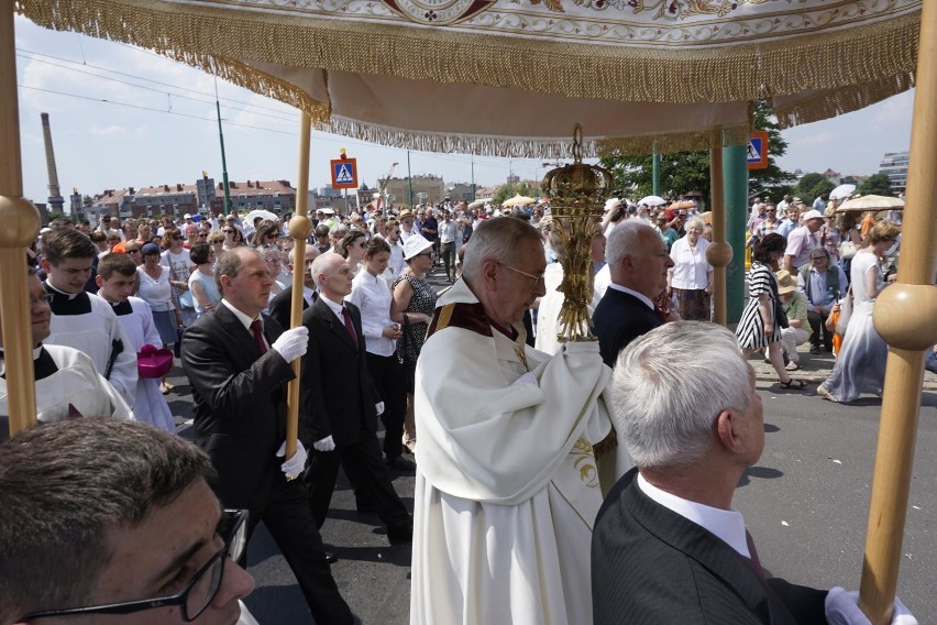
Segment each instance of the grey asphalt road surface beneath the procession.
[{"label": "grey asphalt road surface beneath the procession", "polygon": [[[782,391],[767,365],[754,359],[752,364],[764,401],[767,442],[735,503],[761,561],[772,574],[795,583],[858,589],[881,401],[869,396],[853,405],[831,404],[816,395],[816,383],[805,393]],[[828,365],[828,357],[814,357],[802,373],[822,380]],[[897,592],[919,623],[937,623],[937,391],[933,374],[926,375]],[[178,368],[169,381],[176,390],[167,399],[187,436],[187,381]],[[394,472],[394,485],[412,509],[412,473]],[[354,509],[343,476],[322,537],[340,558],[332,573],[360,622],[408,623],[409,547],[390,547],[377,516]],[[246,604],[262,625],[312,623],[263,526],[249,547],[249,570],[256,590]]]}]

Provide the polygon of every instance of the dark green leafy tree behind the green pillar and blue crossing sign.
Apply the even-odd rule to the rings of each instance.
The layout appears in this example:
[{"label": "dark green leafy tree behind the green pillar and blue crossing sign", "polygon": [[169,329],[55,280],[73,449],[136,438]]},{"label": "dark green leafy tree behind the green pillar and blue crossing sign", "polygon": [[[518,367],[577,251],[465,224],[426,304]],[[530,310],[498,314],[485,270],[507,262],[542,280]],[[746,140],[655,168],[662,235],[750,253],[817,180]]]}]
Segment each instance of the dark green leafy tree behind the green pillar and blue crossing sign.
[{"label": "dark green leafy tree behind the green pillar and blue crossing sign", "polygon": [[[773,199],[780,200],[787,187],[784,180],[791,179],[792,174],[781,169],[775,158],[787,151],[787,142],[781,136],[780,127],[773,121],[771,107],[759,101],[754,107],[754,125],[768,131],[768,167],[749,172],[749,190],[764,194],[771,189]],[[611,155],[602,160],[602,165],[615,176],[616,188],[633,198],[651,195],[653,189],[651,154],[639,156]],[[687,191],[698,190],[704,197],[709,197],[709,151],[674,152],[661,155],[661,194],[677,196]],[[778,197],[774,198],[773,196]]]}]

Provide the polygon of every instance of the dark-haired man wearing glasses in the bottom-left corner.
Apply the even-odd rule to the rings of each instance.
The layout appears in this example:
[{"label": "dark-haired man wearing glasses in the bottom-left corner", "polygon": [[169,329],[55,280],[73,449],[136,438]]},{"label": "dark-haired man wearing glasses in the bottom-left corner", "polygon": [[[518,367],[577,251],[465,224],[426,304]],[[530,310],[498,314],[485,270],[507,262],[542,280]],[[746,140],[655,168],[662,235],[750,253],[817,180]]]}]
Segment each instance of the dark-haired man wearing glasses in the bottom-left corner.
[{"label": "dark-haired man wearing glasses in the bottom-left corner", "polygon": [[[189,442],[86,418],[0,446],[0,623],[256,624],[222,511]],[[239,621],[239,614],[241,619]]]}]

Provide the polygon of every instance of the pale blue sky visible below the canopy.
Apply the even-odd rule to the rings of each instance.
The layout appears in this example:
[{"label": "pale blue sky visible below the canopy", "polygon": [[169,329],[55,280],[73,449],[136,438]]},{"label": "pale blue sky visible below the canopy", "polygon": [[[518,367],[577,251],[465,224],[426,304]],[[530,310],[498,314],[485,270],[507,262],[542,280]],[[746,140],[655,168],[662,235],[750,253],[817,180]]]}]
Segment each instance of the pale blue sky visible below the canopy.
[{"label": "pale blue sky visible below the canopy", "polygon": [[[93,195],[107,188],[191,184],[202,169],[221,179],[214,79],[147,51],[16,18],[16,66],[25,196],[45,201],[41,112],[49,113],[62,194],[73,187]],[[218,81],[228,174],[231,179],[280,179],[296,184],[298,113],[275,100]],[[101,100],[108,100],[107,102]],[[913,92],[861,111],[784,131],[789,171],[868,175],[885,152],[908,149]],[[361,178],[374,185],[392,163],[407,175],[407,151],[313,132],[310,187],[329,182],[330,158],[345,147],[359,160]],[[478,156],[475,182],[494,185],[509,171],[541,177],[541,161]],[[410,153],[412,175],[470,182],[472,157]]]}]

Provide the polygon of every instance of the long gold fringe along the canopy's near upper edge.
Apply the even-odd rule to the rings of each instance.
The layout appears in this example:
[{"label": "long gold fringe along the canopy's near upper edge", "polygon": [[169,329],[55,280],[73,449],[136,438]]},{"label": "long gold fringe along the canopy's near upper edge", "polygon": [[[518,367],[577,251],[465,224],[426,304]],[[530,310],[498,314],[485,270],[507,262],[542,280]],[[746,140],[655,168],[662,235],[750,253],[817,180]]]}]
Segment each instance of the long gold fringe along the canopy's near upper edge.
[{"label": "long gold fringe along the canopy's near upper edge", "polygon": [[[684,103],[835,90],[895,76],[910,80],[921,20],[917,10],[867,26],[817,26],[795,39],[664,50],[505,36],[472,24],[297,19],[285,12],[161,0],[20,0],[18,8],[49,29],[164,54],[176,51],[192,61],[214,55],[577,98]],[[848,107],[848,98],[842,103],[836,102],[836,92],[829,98],[830,110]]]}]

